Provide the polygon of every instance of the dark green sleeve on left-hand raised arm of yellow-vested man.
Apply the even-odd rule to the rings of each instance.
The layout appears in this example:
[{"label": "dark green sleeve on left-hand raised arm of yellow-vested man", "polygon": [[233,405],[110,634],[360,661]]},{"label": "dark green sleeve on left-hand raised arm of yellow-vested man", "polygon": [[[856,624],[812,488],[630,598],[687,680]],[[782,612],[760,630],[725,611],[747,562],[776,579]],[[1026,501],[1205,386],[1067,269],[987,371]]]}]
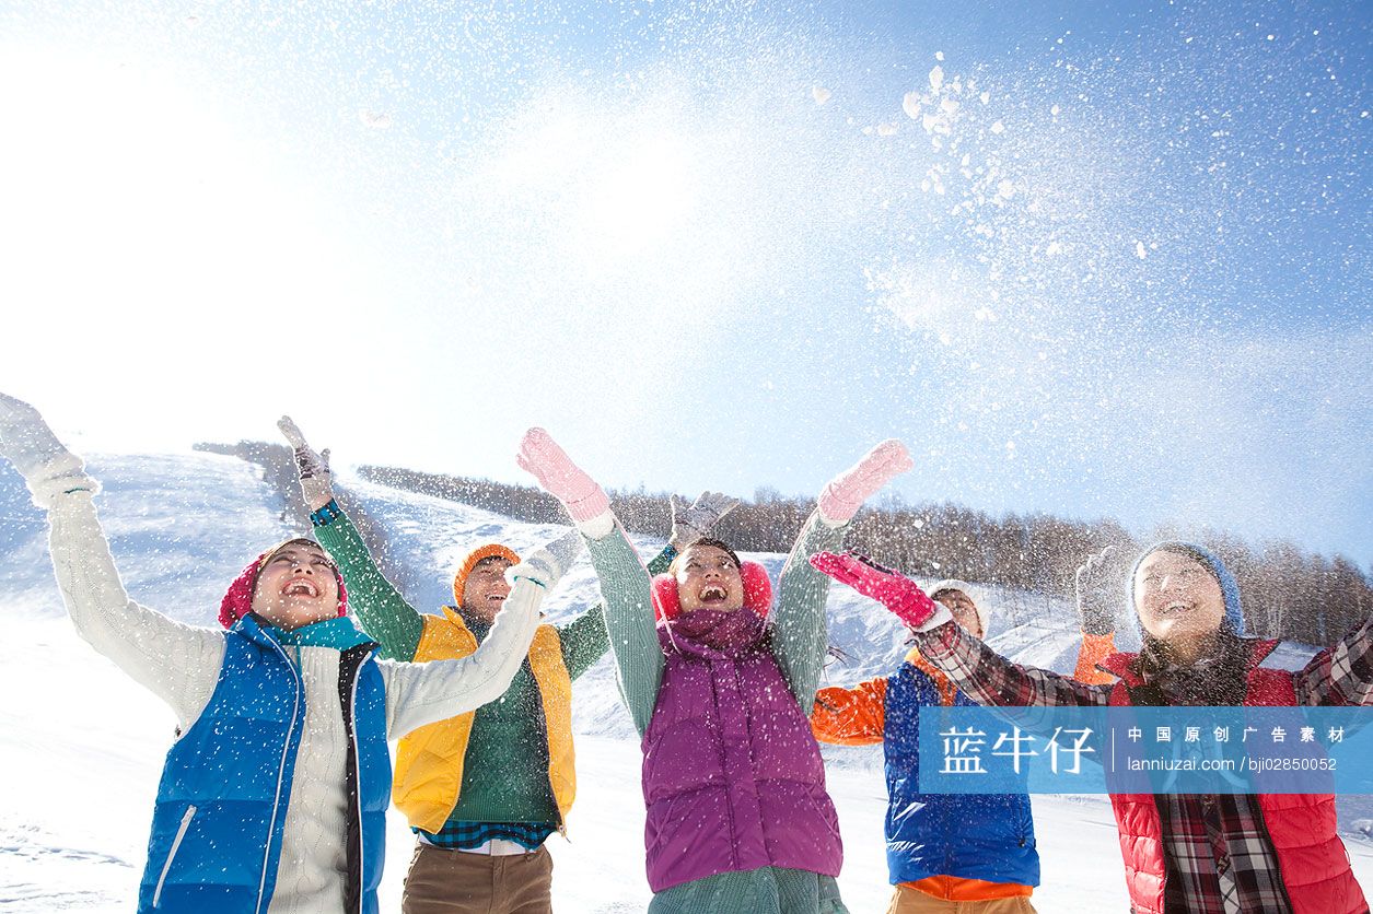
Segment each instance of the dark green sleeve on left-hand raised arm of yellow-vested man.
[{"label": "dark green sleeve on left-hand raised arm of yellow-vested man", "polygon": [[[347,602],[367,637],[380,645],[387,660],[413,660],[424,631],[424,618],[372,561],[357,527],[335,502],[314,513],[314,535],[328,549],[347,585]],[[321,517],[323,522],[321,522]]]}]

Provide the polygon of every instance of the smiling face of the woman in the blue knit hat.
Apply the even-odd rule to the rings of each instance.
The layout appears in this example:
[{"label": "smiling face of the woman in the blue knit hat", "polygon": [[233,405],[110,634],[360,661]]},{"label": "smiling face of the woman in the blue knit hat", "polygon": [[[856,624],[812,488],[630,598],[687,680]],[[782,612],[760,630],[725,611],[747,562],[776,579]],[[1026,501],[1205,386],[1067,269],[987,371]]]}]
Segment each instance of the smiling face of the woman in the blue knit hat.
[{"label": "smiling face of the woman in the blue knit hat", "polygon": [[1145,631],[1166,645],[1185,648],[1219,631],[1225,596],[1200,561],[1160,549],[1135,568],[1134,609]]}]

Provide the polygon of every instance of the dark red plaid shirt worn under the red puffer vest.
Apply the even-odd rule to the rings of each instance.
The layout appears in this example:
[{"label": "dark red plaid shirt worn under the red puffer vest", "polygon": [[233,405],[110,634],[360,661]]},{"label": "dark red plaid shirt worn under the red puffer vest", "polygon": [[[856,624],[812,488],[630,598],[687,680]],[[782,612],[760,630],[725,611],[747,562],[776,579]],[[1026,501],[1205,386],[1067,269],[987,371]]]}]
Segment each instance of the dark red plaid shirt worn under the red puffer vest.
[{"label": "dark red plaid shirt worn under the red puffer vest", "polygon": [[[1115,688],[1085,685],[1012,663],[953,623],[920,633],[920,642],[921,653],[980,704],[1105,705]],[[1266,655],[1252,653],[1251,667]],[[1167,672],[1160,671],[1157,679],[1164,690]],[[1311,657],[1292,674],[1292,685],[1302,705],[1373,704],[1373,619]],[[1173,704],[1188,704],[1181,696],[1166,697]],[[1163,825],[1167,910],[1189,914],[1292,910],[1258,797],[1163,795],[1155,801]]]}]

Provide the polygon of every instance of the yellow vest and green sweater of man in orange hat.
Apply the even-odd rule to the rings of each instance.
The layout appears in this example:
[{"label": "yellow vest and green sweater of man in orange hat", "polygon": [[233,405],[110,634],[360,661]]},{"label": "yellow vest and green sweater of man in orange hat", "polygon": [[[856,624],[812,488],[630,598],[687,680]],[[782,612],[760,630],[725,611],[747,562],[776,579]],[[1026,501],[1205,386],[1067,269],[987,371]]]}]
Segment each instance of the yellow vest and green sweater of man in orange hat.
[{"label": "yellow vest and green sweater of man in orange hat", "polygon": [[[464,657],[486,638],[489,624],[464,618],[456,607],[443,607],[441,615],[411,607],[336,505],[312,516],[320,543],[339,563],[349,604],[368,637],[382,645],[382,656]],[[666,548],[649,568],[666,570],[674,554]],[[391,799],[411,828],[430,836],[474,822],[562,829],[577,793],[571,683],[608,649],[599,605],[566,626],[542,624],[504,696],[402,738]]]}]

